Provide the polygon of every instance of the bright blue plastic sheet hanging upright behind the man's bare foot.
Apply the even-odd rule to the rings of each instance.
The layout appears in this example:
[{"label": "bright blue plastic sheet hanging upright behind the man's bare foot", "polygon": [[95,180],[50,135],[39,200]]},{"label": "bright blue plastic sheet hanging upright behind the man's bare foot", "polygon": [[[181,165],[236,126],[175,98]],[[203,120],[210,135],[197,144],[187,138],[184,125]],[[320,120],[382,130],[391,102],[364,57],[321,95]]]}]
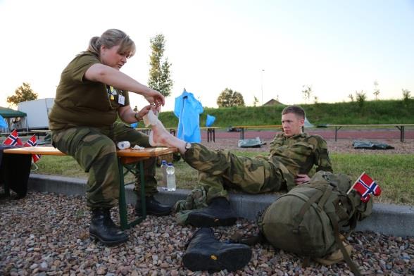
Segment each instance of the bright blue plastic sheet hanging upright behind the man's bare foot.
[{"label": "bright blue plastic sheet hanging upright behind the man's bare foot", "polygon": [[184,92],[175,98],[174,114],[178,118],[177,137],[185,142],[201,142],[200,114],[203,106],[194,94]]}]

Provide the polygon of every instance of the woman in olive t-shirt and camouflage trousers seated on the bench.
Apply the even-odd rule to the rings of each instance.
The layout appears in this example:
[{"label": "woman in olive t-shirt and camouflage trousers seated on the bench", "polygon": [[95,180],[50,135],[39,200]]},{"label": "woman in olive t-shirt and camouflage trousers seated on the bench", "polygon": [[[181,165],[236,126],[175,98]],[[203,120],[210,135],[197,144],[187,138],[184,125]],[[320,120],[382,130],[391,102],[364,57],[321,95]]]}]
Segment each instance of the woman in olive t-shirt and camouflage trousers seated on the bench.
[{"label": "woman in olive t-shirt and camouflage trousers seated on the bench", "polygon": [[[92,37],[87,51],[75,56],[63,70],[49,113],[52,144],[73,156],[89,172],[87,206],[92,210],[89,233],[108,245],[127,240],[109,212],[117,203],[122,173],[118,171],[115,143],[129,141],[131,146],[150,146],[146,134],[125,123],[136,123],[149,110],[159,110],[165,103],[160,92],[120,72],[134,53],[135,44],[123,31],[110,29],[101,37]],[[133,111],[130,92],[144,96],[150,104],[141,111]],[[117,121],[118,117],[125,123]],[[170,206],[153,198],[157,192],[155,160],[144,162],[144,169],[147,212],[170,213]],[[140,213],[139,207],[136,211]]]}]

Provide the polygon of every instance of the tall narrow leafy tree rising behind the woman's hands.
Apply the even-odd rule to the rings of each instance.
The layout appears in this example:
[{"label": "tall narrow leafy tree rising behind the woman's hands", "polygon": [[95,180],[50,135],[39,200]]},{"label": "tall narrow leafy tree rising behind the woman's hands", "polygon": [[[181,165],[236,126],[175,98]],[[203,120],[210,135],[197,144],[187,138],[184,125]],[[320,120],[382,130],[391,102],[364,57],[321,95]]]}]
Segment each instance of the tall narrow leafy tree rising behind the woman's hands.
[{"label": "tall narrow leafy tree rising behind the woman's hands", "polygon": [[151,43],[152,53],[149,57],[148,86],[158,90],[164,96],[170,96],[173,83],[170,77],[170,66],[172,64],[168,63],[168,58],[163,59],[165,49],[164,35],[156,35],[149,42]]}]

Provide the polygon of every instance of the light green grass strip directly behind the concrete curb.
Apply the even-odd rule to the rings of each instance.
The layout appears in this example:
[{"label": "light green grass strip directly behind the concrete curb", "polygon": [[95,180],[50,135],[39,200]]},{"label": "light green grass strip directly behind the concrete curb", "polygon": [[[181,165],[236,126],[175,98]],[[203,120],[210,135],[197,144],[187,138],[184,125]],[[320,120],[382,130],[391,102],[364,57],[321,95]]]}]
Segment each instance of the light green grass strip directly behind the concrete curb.
[{"label": "light green grass strip directly behind the concrete curb", "polygon": [[[239,156],[249,157],[260,154],[251,151],[233,152]],[[331,159],[334,171],[343,172],[352,180],[356,180],[363,171],[373,177],[382,189],[382,195],[375,198],[376,202],[414,205],[413,154],[333,153]],[[37,165],[39,170],[35,173],[87,178],[87,173],[82,172],[70,156],[42,156]],[[197,183],[197,171],[182,160],[175,162],[175,168],[177,188],[192,189]],[[160,170],[157,170],[156,178],[161,180]],[[132,177],[127,177],[126,181],[132,181]]]}]

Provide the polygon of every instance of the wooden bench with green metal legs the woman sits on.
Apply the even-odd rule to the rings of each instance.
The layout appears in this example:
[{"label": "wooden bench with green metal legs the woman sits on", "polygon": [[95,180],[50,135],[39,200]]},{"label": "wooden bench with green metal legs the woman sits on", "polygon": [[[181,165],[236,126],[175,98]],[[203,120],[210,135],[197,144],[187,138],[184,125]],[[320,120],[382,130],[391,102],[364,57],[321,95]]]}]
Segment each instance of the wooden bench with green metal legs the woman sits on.
[{"label": "wooden bench with green metal legs the woman sits on", "polygon": [[[118,156],[118,168],[120,172],[120,195],[119,195],[119,215],[120,215],[120,227],[122,229],[129,229],[130,227],[137,225],[146,218],[146,202],[145,202],[145,183],[144,183],[144,165],[143,161],[151,157],[163,156],[168,153],[174,153],[175,148],[146,148],[142,150],[134,149],[118,149],[116,151]],[[65,156],[66,154],[55,149],[53,146],[27,146],[21,148],[4,149],[5,154],[41,154],[49,156]],[[139,171],[135,164],[139,163]],[[123,168],[127,168],[127,172],[123,172]],[[132,172],[137,175],[139,172],[141,183],[141,203],[142,203],[142,217],[133,220],[128,223],[127,220],[127,203],[125,199],[125,182],[124,177],[128,172]],[[7,190],[6,190],[7,189]],[[8,187],[5,187],[6,194],[9,193]]]}]

